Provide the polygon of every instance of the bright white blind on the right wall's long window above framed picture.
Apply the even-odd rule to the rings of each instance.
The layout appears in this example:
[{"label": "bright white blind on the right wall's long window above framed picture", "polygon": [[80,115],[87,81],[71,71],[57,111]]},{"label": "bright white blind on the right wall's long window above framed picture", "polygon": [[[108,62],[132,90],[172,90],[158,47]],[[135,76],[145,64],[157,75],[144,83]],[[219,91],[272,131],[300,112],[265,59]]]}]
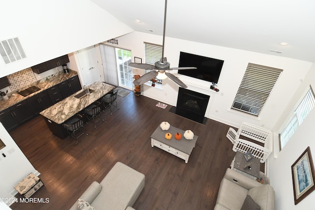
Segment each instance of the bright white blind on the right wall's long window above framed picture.
[{"label": "bright white blind on the right wall's long window above framed picture", "polygon": [[302,124],[303,120],[308,116],[315,106],[315,97],[312,88],[308,90],[291,118],[285,123],[280,132],[280,146],[284,148],[286,143],[290,140],[297,128]]}]

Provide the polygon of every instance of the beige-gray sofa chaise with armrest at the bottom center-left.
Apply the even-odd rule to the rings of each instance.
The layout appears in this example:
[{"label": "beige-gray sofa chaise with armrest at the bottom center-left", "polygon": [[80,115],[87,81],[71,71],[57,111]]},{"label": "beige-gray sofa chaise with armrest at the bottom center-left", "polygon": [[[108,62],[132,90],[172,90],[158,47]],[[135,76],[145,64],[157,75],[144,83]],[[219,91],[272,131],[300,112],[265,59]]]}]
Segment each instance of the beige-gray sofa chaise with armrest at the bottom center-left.
[{"label": "beige-gray sofa chaise with armrest at the bottom center-left", "polygon": [[[100,183],[94,181],[78,199],[83,199],[95,210],[133,210],[144,182],[142,173],[117,162]],[[78,210],[77,202],[70,210]]]}]

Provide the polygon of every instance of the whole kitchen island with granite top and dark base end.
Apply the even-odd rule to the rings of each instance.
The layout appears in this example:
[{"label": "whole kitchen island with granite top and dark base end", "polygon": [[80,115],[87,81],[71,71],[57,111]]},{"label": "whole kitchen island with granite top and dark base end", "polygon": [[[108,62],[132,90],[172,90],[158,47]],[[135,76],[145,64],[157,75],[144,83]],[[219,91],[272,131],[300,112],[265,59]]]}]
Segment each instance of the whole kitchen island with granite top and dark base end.
[{"label": "whole kitchen island with granite top and dark base end", "polygon": [[84,91],[80,90],[39,113],[44,117],[48,128],[53,132],[54,135],[61,139],[64,139],[66,136],[68,136],[66,129],[63,128],[63,122],[70,119],[77,113],[80,113],[86,107],[116,87],[103,82],[95,82],[88,88],[94,91],[83,96],[82,98],[74,97],[78,93]]}]

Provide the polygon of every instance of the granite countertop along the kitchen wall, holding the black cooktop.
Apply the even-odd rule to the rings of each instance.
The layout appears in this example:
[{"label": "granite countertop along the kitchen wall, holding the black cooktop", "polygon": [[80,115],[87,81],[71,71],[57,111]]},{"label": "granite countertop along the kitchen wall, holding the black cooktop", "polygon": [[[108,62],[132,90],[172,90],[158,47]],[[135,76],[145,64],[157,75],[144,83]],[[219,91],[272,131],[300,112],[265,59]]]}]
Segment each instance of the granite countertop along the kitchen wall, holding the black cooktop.
[{"label": "granite countertop along the kitchen wall, holding the black cooktop", "polygon": [[26,97],[18,94],[16,92],[13,92],[10,96],[9,96],[9,100],[2,100],[0,101],[0,111],[6,109],[6,108],[9,108],[10,106],[13,106],[14,104],[17,104],[29,97],[32,97],[33,95],[36,95],[38,93],[40,93],[41,91],[44,91],[44,90],[47,90],[71,77],[74,77],[75,75],[77,75],[78,73],[76,71],[73,71],[73,70],[70,70],[70,72],[68,74],[64,74],[64,73],[61,73],[57,76],[54,76],[50,79],[46,79],[46,80],[39,80],[37,81],[36,83],[33,83],[27,87],[23,87],[22,90],[25,90],[29,87],[32,87],[32,86],[37,86],[38,88],[41,88],[41,90],[37,91],[37,92],[34,92]]}]

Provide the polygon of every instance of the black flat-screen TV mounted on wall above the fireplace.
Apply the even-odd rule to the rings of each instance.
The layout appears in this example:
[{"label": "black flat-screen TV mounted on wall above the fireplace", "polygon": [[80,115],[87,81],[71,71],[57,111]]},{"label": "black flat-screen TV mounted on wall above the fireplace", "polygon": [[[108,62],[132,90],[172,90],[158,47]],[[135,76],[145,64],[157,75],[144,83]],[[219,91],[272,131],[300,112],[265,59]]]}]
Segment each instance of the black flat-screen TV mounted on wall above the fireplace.
[{"label": "black flat-screen TV mounted on wall above the fireplace", "polygon": [[190,53],[180,53],[178,67],[196,67],[192,70],[178,70],[179,74],[218,83],[224,60],[207,58]]}]

